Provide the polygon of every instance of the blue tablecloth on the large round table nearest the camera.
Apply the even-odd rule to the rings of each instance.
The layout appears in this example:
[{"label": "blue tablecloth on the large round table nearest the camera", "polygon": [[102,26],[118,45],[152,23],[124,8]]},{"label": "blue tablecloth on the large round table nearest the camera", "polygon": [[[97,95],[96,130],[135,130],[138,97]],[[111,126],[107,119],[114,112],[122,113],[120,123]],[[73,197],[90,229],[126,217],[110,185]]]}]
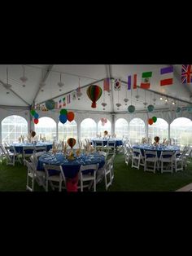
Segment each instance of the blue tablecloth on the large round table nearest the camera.
[{"label": "blue tablecloth on the large round table nearest the camera", "polygon": [[[98,153],[93,153],[88,156],[82,154],[81,157],[75,157],[73,161],[69,161],[62,153],[57,153],[55,155],[47,153],[39,157],[37,170],[44,170],[43,164],[62,166],[65,177],[72,179],[76,177],[81,165],[87,166],[99,164],[98,168],[102,168],[105,164],[105,157]],[[54,173],[55,171],[52,172],[52,174]]]}]

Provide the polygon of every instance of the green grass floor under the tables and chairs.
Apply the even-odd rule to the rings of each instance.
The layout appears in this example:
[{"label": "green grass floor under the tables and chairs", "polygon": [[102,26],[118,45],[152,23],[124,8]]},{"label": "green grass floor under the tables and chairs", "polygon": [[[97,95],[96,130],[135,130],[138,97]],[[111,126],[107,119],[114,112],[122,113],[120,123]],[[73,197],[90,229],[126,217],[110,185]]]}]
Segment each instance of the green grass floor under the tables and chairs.
[{"label": "green grass floor under the tables and chairs", "polygon": [[[178,188],[192,183],[192,163],[188,164],[184,171],[177,173],[144,172],[131,168],[124,163],[124,155],[116,155],[114,161],[115,179],[112,186],[108,188],[110,192],[125,191],[175,191]],[[26,191],[27,168],[20,163],[15,166],[7,166],[6,161],[0,162],[0,192],[25,192]],[[43,188],[36,183],[35,191],[43,192]],[[97,191],[105,191],[104,181],[97,185]]]}]

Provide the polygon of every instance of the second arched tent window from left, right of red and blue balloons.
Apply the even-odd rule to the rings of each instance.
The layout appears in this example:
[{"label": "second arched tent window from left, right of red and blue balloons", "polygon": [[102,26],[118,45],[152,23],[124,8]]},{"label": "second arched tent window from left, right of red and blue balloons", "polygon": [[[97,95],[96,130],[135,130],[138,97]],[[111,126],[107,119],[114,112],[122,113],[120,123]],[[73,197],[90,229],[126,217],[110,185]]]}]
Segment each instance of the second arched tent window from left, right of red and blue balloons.
[{"label": "second arched tent window from left, right of red and blue balloons", "polygon": [[39,122],[35,125],[37,135],[46,137],[46,140],[53,141],[57,138],[56,135],[56,122],[50,117],[41,117]]}]

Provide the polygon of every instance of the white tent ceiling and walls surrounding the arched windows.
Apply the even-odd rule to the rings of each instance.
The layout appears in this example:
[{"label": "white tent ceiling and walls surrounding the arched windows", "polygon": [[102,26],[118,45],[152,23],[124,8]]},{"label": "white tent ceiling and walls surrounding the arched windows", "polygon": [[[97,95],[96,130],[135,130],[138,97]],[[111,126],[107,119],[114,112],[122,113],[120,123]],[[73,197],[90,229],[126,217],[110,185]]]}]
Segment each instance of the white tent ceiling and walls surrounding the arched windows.
[{"label": "white tent ceiling and walls surrounding the arched windows", "polygon": [[[86,117],[91,117],[98,123],[101,117],[111,121],[111,132],[115,132],[115,122],[123,117],[127,121],[133,117],[140,117],[147,124],[151,113],[147,105],[154,104],[152,115],[164,118],[170,124],[177,117],[192,119],[192,114],[185,110],[192,104],[191,83],[181,83],[181,64],[173,65],[173,84],[159,86],[160,68],[171,65],[166,64],[25,64],[25,65],[0,65],[0,122],[10,115],[20,115],[28,121],[28,130],[34,129],[32,117],[29,113],[34,104],[43,104],[48,99],[58,101],[63,96],[72,94],[72,91],[81,86],[81,99],[72,99],[66,104],[68,110],[76,115],[77,126]],[[148,90],[140,88],[143,72],[152,72],[151,87]],[[137,74],[137,89],[127,90],[129,75]],[[22,78],[27,77],[26,82]],[[111,92],[103,91],[97,101],[97,108],[91,108],[91,100],[86,94],[89,85],[95,84],[103,89],[104,78],[111,77],[121,80],[120,90],[114,90],[111,82]],[[24,80],[24,79],[23,79]],[[112,81],[112,80],[111,80]],[[63,83],[60,84],[59,82]],[[162,98],[162,100],[160,99]],[[129,99],[126,103],[124,99]],[[165,102],[168,99],[168,102]],[[103,110],[102,103],[107,105]],[[116,104],[121,104],[118,107]],[[128,113],[128,106],[133,104],[134,113]],[[176,112],[176,108],[184,110]],[[40,117],[52,117],[59,122],[59,110],[38,111]],[[0,126],[1,127],[1,126]],[[0,134],[2,134],[0,128]],[[147,130],[146,130],[147,133]],[[78,135],[81,130],[78,128]],[[147,135],[147,134],[146,134]],[[1,136],[1,135],[0,135]],[[0,140],[1,137],[0,137]]]}]

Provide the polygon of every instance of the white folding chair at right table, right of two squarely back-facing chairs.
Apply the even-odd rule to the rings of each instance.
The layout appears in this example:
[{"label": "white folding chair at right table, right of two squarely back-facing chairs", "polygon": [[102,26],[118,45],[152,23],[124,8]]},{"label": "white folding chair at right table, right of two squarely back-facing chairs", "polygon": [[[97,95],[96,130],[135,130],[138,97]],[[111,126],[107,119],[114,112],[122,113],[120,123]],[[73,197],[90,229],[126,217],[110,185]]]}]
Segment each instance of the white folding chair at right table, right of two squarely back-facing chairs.
[{"label": "white folding chair at right table, right of two squarely back-facing chairs", "polygon": [[172,151],[162,151],[159,162],[161,163],[161,173],[163,172],[171,172],[173,166],[173,155]]}]

